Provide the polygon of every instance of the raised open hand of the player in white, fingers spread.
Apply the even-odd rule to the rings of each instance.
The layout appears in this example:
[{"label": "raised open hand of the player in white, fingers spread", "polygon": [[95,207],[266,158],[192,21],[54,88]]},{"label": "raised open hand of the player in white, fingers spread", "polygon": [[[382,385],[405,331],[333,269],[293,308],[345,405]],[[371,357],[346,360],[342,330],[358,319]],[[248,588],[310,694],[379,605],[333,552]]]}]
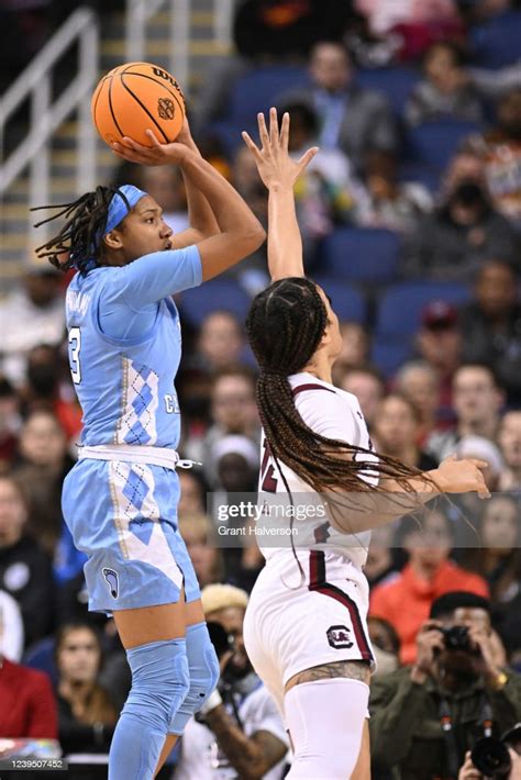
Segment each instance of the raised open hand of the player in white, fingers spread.
[{"label": "raised open hand of the player in white, fingers spread", "polygon": [[289,114],[285,113],[280,132],[278,127],[277,109],[269,109],[269,132],[266,127],[264,114],[257,114],[260,148],[246,132],[242,136],[244,143],[252,152],[257,165],[258,174],[267,187],[285,185],[292,187],[306,166],[319,151],[318,146],[304,152],[299,160],[293,160],[288,153]]}]

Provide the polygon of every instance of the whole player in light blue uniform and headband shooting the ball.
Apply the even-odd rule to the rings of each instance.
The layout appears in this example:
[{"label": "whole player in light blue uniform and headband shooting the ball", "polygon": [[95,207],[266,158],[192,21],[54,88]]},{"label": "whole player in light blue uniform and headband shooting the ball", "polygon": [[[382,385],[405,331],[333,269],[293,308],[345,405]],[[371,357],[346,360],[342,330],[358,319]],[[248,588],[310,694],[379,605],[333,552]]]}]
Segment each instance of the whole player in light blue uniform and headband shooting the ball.
[{"label": "whole player in light blue uniform and headband shooting the ball", "polygon": [[177,530],[181,334],[171,296],[221,274],[265,238],[246,203],[202,159],[188,124],[176,143],[162,145],[152,133],[151,143],[125,138],[114,152],[147,165],[179,164],[189,230],[173,235],[159,205],[135,187],[98,187],[60,207],[65,226],[38,250],[78,271],[66,314],[84,432],[63,510],[88,555],[89,609],[113,613],[132,670],[109,780],[153,778],[218,680]]}]

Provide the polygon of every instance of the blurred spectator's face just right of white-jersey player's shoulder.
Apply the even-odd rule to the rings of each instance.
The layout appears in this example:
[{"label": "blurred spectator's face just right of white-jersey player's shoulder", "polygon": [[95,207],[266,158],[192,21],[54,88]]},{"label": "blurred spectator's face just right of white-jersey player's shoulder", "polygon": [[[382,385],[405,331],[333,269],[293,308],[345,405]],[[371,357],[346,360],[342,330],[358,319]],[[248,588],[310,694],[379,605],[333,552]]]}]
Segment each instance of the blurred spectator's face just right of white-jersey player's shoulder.
[{"label": "blurred spectator's face just right of white-jersey player's shoulder", "polygon": [[380,401],[373,421],[377,452],[422,471],[436,468],[437,460],[418,446],[420,423],[414,404],[406,395],[390,393]]}]

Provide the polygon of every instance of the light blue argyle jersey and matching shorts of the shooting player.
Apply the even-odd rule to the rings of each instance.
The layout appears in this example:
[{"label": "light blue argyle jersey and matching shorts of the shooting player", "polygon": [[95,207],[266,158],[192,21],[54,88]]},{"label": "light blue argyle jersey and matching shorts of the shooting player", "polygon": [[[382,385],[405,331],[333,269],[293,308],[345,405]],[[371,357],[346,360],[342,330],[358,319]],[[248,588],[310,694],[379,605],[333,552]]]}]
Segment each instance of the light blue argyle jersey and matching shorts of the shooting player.
[{"label": "light blue argyle jersey and matching shorts of the shooting player", "polygon": [[85,573],[95,611],[174,603],[181,588],[187,601],[200,595],[177,530],[177,473],[134,463],[132,453],[178,445],[174,381],[181,334],[170,296],[200,285],[201,275],[199,250],[191,246],[77,274],[67,290],[81,444],[125,445],[129,453],[121,459],[81,459],[64,482],[64,517],[76,547],[88,556]]}]

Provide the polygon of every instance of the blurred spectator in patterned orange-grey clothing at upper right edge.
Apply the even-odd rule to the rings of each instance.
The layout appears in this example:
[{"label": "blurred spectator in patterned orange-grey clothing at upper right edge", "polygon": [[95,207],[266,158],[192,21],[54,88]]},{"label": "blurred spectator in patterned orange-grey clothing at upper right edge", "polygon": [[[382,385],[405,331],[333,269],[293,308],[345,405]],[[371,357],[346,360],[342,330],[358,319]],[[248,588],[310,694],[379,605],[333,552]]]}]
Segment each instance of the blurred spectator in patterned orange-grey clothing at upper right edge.
[{"label": "blurred spectator in patterned orange-grey clothing at upper right edge", "polygon": [[486,174],[496,209],[521,224],[521,87],[498,103],[497,127],[485,133]]}]

